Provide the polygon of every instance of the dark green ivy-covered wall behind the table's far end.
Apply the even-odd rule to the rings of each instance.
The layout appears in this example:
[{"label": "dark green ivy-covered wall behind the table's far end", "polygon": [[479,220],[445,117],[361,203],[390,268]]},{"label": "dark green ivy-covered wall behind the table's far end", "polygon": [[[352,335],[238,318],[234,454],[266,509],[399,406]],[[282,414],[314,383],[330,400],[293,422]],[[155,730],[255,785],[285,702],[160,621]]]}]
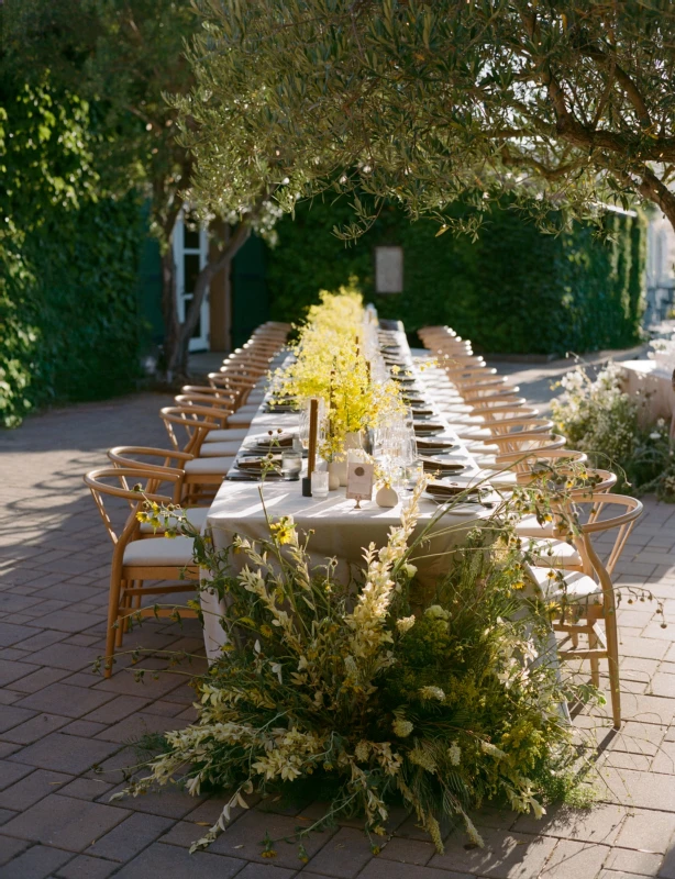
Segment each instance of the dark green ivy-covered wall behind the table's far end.
[{"label": "dark green ivy-covered wall behind the table's far end", "polygon": [[[457,207],[457,211],[462,210]],[[502,354],[564,354],[623,347],[640,337],[645,223],[608,212],[605,243],[587,226],[547,235],[510,210],[491,211],[476,242],[428,220],[411,223],[385,209],[372,232],[345,247],[331,234],[350,219],[344,202],[301,204],[278,226],[268,254],[272,315],[296,319],[320,289],[350,276],[383,316],[409,331],[447,323],[478,349]],[[374,294],[373,247],[403,248],[400,294]]]}]

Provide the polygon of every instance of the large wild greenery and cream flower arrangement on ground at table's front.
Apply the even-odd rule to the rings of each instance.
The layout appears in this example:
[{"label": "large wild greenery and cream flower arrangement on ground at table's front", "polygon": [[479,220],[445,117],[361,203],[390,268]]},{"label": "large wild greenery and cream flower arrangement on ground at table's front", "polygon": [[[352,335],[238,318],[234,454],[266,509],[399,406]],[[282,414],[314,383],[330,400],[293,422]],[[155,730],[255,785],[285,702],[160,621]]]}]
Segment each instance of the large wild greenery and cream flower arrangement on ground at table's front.
[{"label": "large wild greenery and cream flower arrangement on ground at table's front", "polygon": [[[150,772],[115,797],[170,781],[192,794],[229,791],[193,850],[254,793],[295,787],[329,795],[325,813],[298,832],[307,859],[303,836],[350,814],[363,815],[377,850],[400,801],[442,850],[443,819],[482,845],[469,810],[506,802],[541,815],[547,801],[575,795],[578,755],[563,705],[597,693],[562,681],[551,661],[551,608],[528,588],[509,526],[527,511],[550,518],[552,491],[516,491],[488,527],[464,532],[446,575],[420,588],[410,559],[422,564],[427,530],[412,539],[422,488],[350,583],[335,560],[310,564],[311,535],[290,518],[269,520],[268,539],[235,537],[219,553],[179,513],[177,522],[176,510],[148,504],[140,513],[195,538],[195,560],[225,601],[226,643],[193,682],[197,722],[167,733]],[[274,845],[265,841],[266,856]]]}]

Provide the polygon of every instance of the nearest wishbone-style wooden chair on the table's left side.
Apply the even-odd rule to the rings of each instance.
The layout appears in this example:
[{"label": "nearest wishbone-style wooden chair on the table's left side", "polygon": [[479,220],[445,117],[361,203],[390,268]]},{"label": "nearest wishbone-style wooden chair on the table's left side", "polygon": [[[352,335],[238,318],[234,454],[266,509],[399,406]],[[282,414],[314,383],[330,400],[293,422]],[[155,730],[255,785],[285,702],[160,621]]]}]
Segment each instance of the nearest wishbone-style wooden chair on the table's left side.
[{"label": "nearest wishbone-style wooden chair on the table's left side", "polygon": [[[162,479],[159,479],[162,476]],[[155,474],[148,479],[147,470],[134,468],[102,468],[91,470],[84,477],[96,505],[103,519],[106,530],[113,544],[110,571],[110,597],[108,602],[108,631],[106,635],[106,663],[103,674],[112,675],[115,647],[122,639],[130,616],[175,616],[174,608],[142,607],[144,596],[193,592],[199,570],[192,561],[192,541],[189,537],[167,539],[137,539],[141,522],[137,513],[144,512],[144,498],[129,489],[129,480],[156,487],[157,482],[171,481],[170,474]],[[104,498],[121,498],[131,505],[120,533],[115,531],[106,509]],[[146,492],[150,501],[168,504],[174,497]],[[191,578],[190,582],[186,582]],[[178,585],[144,586],[147,580],[181,580]],[[195,611],[181,609],[181,616],[196,616]]]}]

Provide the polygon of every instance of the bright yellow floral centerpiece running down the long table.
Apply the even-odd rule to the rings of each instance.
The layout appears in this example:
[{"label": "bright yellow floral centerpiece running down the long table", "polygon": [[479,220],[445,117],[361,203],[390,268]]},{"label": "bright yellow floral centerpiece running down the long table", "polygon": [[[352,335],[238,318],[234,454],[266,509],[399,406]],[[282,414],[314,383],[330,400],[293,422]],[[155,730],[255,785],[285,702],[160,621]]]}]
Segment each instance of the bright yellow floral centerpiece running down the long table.
[{"label": "bright yellow floral centerpiece running down the long table", "polygon": [[324,401],[328,425],[320,452],[332,459],[344,452],[347,434],[358,434],[403,412],[395,381],[375,381],[363,353],[365,310],[361,293],[345,287],[322,290],[294,346],[295,363],[273,375],[280,397]]}]

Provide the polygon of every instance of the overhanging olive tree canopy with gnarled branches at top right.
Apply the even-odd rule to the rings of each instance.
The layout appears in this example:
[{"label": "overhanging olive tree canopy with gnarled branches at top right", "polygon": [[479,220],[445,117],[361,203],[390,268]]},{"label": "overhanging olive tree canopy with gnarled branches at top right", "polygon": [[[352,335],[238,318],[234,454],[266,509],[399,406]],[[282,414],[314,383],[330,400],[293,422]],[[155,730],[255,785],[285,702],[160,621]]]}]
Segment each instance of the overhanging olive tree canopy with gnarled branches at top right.
[{"label": "overhanging olive tree canopy with gnarled branches at top right", "polygon": [[[193,182],[237,210],[272,185],[385,200],[471,231],[513,193],[656,204],[675,225],[675,10],[667,0],[196,0],[196,86],[177,99]],[[370,193],[368,207],[359,192]],[[446,205],[473,211],[453,220]],[[373,207],[375,205],[375,207]]]}]

